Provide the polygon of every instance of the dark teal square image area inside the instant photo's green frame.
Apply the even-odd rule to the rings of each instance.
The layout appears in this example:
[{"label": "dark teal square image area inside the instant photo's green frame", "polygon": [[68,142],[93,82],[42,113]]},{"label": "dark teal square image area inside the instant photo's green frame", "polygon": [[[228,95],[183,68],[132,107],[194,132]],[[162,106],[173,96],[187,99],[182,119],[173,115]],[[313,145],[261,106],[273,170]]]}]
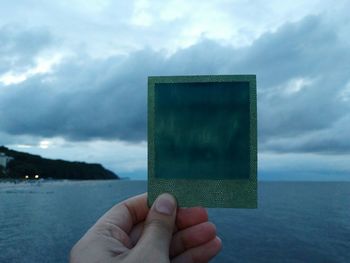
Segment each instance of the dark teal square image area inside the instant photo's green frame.
[{"label": "dark teal square image area inside the instant photo's green frame", "polygon": [[249,178],[249,83],[155,84],[155,176]]}]

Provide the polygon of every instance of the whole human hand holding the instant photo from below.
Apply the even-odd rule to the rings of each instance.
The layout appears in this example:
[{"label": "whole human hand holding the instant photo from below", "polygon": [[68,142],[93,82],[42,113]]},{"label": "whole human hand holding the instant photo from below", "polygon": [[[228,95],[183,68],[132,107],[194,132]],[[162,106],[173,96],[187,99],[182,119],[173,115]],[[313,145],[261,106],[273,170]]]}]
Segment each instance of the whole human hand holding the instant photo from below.
[{"label": "whole human hand holding the instant photo from below", "polygon": [[220,249],[204,208],[176,209],[162,194],[149,209],[142,194],[104,214],[74,245],[70,262],[208,262]]}]

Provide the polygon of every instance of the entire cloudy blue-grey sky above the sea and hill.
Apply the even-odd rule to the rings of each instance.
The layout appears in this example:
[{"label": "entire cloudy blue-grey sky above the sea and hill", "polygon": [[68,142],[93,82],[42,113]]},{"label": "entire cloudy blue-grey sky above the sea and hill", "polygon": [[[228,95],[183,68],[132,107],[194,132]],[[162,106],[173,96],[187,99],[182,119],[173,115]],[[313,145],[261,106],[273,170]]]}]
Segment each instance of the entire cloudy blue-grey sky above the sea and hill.
[{"label": "entire cloudy blue-grey sky above the sea and hill", "polygon": [[1,1],[0,145],[146,179],[147,76],[248,73],[260,179],[350,180],[348,10],[341,0]]}]

